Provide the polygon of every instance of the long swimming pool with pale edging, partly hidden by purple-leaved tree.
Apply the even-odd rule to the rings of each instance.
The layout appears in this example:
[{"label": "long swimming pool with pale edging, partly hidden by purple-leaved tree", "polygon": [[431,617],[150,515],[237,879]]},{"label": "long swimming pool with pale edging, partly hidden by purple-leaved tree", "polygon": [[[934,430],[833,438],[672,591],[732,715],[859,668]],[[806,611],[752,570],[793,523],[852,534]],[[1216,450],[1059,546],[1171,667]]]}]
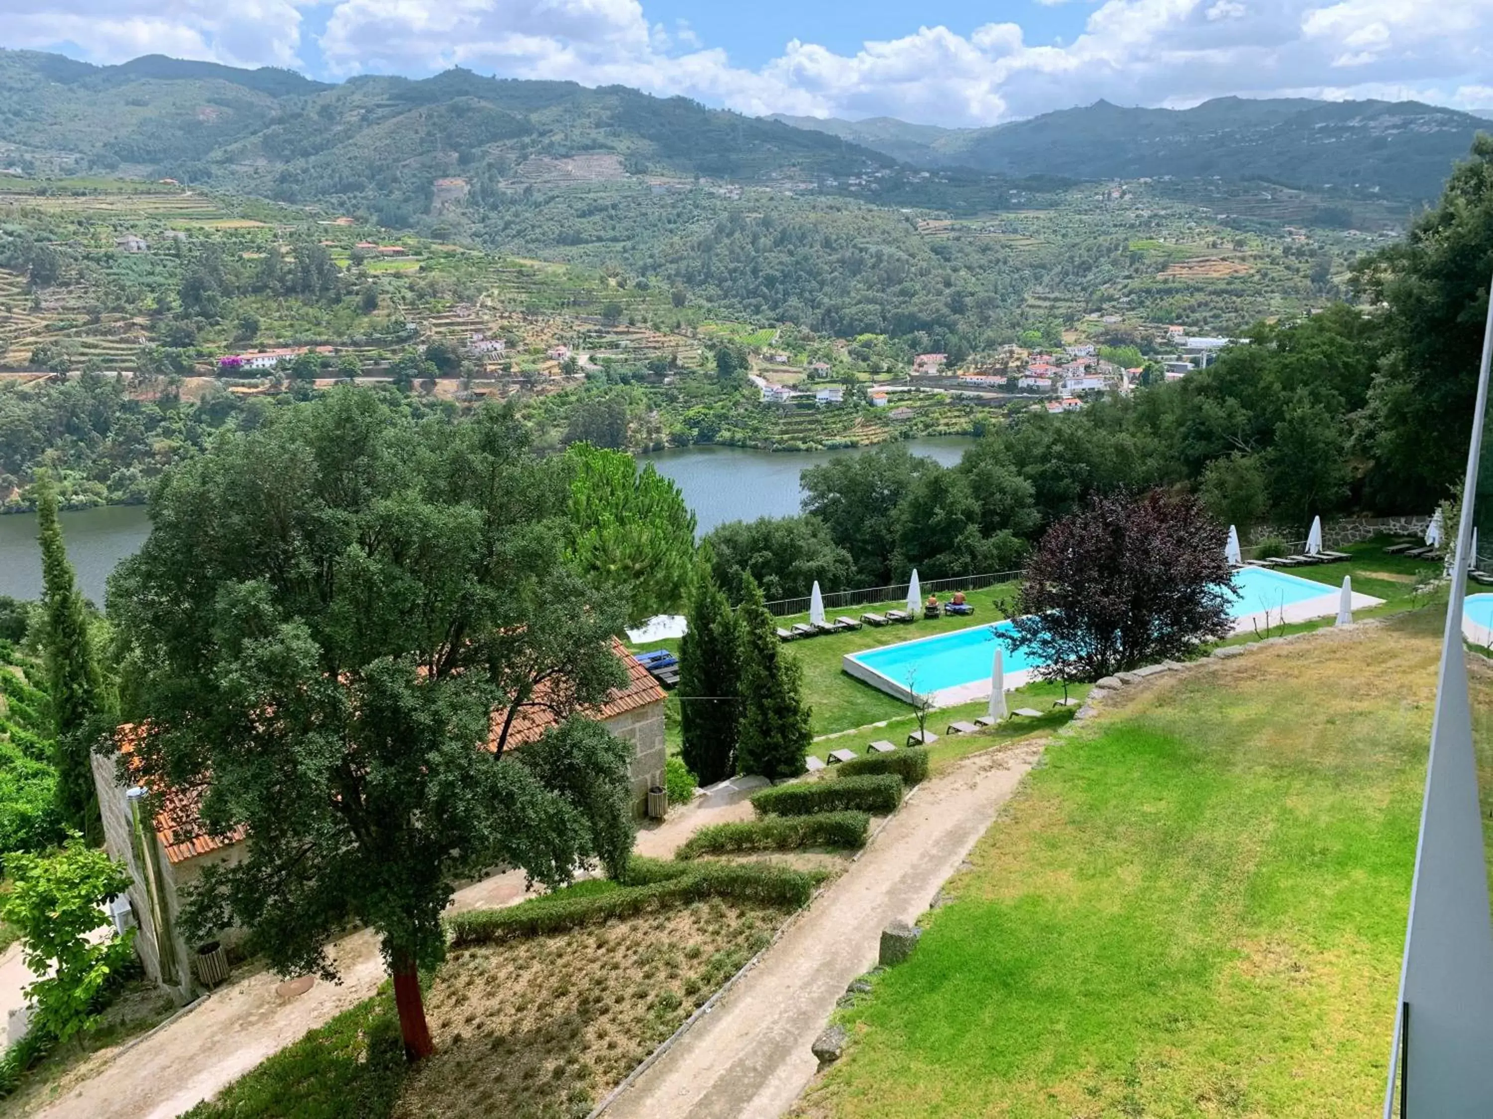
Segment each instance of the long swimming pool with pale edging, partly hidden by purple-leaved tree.
[{"label": "long swimming pool with pale edging, partly hidden by purple-leaved tree", "polygon": [[[1248,631],[1256,624],[1263,627],[1320,618],[1338,609],[1338,588],[1284,571],[1245,567],[1235,573],[1233,585],[1236,601],[1229,615],[1235,619],[1236,633]],[[1493,609],[1493,595],[1486,597]],[[1353,600],[1356,609],[1380,601],[1359,594]],[[850,653],[841,661],[841,667],[900,700],[909,700],[917,692],[932,694],[939,706],[967,703],[990,694],[990,670],[997,648],[1005,652],[1008,688],[1026,683],[1032,670],[1039,665],[1030,653],[1012,652],[999,640],[1002,633],[1012,631],[1011,622],[975,625]]]}]

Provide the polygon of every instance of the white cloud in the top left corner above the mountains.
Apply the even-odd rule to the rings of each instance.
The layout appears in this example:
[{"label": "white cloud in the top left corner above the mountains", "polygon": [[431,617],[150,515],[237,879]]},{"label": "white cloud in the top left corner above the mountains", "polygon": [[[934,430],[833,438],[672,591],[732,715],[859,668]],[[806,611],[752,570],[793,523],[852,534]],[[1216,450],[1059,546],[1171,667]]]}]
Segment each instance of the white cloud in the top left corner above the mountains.
[{"label": "white cloud in the top left corner above the mountains", "polygon": [[72,43],[93,63],[167,54],[230,66],[299,66],[308,0],[0,0],[0,42]]}]

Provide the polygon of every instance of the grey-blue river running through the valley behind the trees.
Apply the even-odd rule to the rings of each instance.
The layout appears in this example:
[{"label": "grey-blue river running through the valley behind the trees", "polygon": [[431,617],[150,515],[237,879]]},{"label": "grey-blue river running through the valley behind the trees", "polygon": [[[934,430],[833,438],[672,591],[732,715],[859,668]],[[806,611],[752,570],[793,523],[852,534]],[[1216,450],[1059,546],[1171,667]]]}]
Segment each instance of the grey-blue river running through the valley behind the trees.
[{"label": "grey-blue river running through the valley behind the trees", "polygon": [[[967,436],[948,436],[914,439],[906,448],[915,455],[953,466],[973,443]],[[642,455],[639,463],[652,463],[658,473],[678,483],[703,534],[724,521],[797,513],[799,473],[832,458],[857,454],[861,454],[860,448],[775,454],[749,448],[691,446]],[[115,564],[139,551],[149,531],[143,506],[63,513],[67,555],[88,598],[103,604],[105,579]],[[39,598],[42,594],[42,555],[36,545],[34,515],[0,516],[0,594],[12,598]]]}]

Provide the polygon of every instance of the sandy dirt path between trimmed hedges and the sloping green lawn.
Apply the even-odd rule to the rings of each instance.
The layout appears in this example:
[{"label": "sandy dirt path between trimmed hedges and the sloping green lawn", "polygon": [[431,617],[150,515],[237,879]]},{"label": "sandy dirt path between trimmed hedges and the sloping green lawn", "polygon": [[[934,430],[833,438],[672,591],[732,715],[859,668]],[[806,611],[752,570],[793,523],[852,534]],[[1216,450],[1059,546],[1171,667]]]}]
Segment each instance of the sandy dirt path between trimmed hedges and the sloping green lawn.
[{"label": "sandy dirt path between trimmed hedges and the sloping green lawn", "polygon": [[927,782],[763,961],[608,1109],[608,1119],[770,1119],[814,1076],[809,1052],[881,930],[914,921],[1041,755],[976,755]]}]

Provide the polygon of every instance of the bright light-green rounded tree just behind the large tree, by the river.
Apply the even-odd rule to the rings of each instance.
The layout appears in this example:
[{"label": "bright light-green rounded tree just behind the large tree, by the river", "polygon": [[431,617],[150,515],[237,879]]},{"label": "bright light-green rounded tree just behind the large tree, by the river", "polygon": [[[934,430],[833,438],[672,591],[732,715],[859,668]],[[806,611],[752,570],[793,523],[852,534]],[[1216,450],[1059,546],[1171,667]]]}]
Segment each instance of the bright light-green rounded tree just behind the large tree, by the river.
[{"label": "bright light-green rounded tree just behind the large tree, by the river", "polygon": [[629,621],[679,607],[694,568],[694,513],[679,486],[590,443],[573,443],[566,463],[576,570],[626,601]]}]

